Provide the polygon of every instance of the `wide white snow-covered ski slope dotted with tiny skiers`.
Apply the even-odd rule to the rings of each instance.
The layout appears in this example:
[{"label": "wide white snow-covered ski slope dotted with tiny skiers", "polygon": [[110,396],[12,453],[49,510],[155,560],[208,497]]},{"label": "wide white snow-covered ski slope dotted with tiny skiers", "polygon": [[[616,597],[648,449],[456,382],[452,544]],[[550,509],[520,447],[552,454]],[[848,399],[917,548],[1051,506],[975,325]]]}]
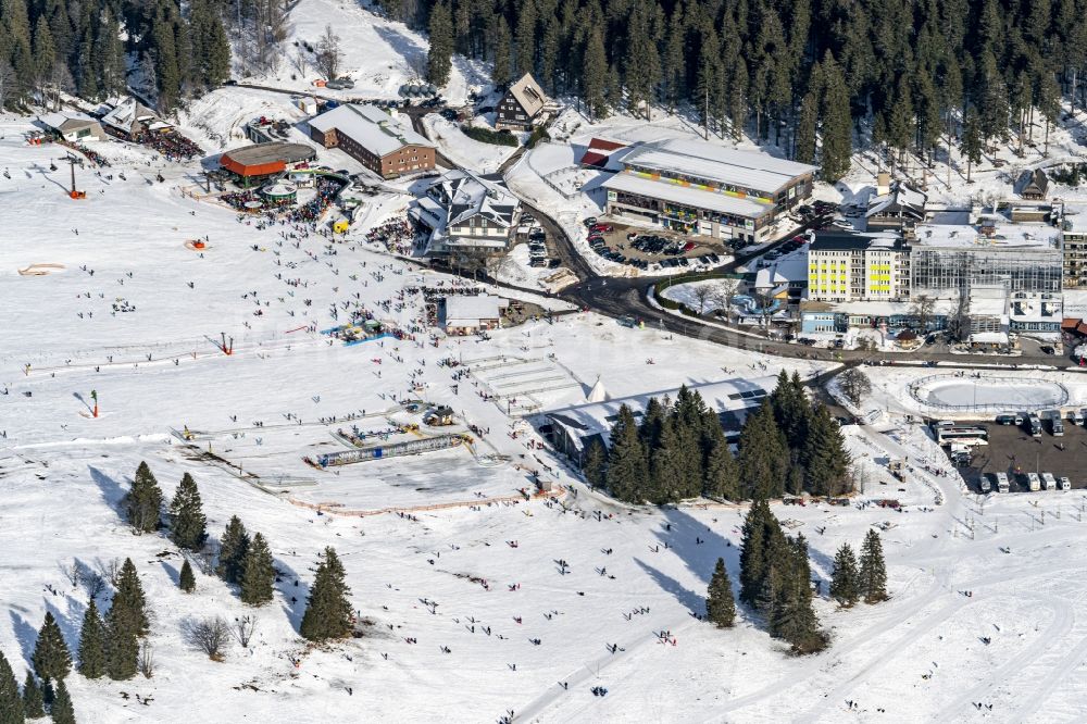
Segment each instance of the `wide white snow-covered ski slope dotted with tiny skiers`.
[{"label": "wide white snow-covered ski slope dotted with tiny skiers", "polygon": [[[22,679],[46,611],[75,648],[87,596],[61,571],[73,560],[95,569],[132,557],[155,619],[152,678],[71,677],[80,722],[477,722],[510,709],[518,721],[540,722],[1079,716],[1087,688],[1082,494],[1008,496],[983,514],[952,477],[921,469],[947,464],[920,428],[894,415],[879,429],[848,428],[867,471],[858,502],[896,498],[908,512],[774,510],[807,536],[824,591],[837,547],[859,546],[871,525],[885,525],[892,599],[848,612],[820,599],[833,645],[791,658],[749,612],[727,632],[692,615],[703,611],[717,557],[738,576],[740,510],[615,504],[547,450],[528,447],[539,438],[526,423],[477,395],[476,384],[495,384],[493,367],[460,379],[451,372],[502,357],[552,365],[575,383],[541,396],[557,408],[584,400],[598,375],[621,397],[763,377],[783,365],[805,375],[820,367],[667,330],[626,329],[591,314],[529,323],[487,341],[438,335],[435,347],[423,330],[415,344],[328,345],[291,330],[332,326],[333,305],[342,313],[345,302],[411,329],[423,309],[405,288],[450,280],[364,249],[362,228],[328,246],[289,226],[238,223],[230,211],[182,196],[196,192],[192,168],[163,166],[115,143],[98,149],[115,160],[102,172],[114,179],[77,171],[87,199],[73,201],[63,188],[66,168],[49,171],[63,152],[24,145],[28,127],[9,121],[0,133],[0,166],[11,176],[0,177],[0,648]],[[166,180],[148,184],[160,171]],[[185,246],[203,237],[203,257]],[[64,269],[18,273],[33,264]],[[113,314],[114,303],[135,311]],[[233,355],[217,350],[221,333],[234,338]],[[464,366],[441,367],[443,359]],[[91,390],[100,399],[97,420],[86,416]],[[478,458],[452,449],[339,475],[301,462],[313,446],[333,444],[341,423],[323,421],[385,411],[393,397],[450,404],[489,429]],[[358,424],[384,425],[370,420]],[[184,446],[171,430],[186,425],[207,437]],[[203,457],[209,447],[227,462]],[[508,461],[495,466],[493,455]],[[884,465],[903,457],[915,470],[899,484]],[[276,600],[257,612],[250,648],[233,645],[223,663],[186,644],[183,626],[251,610],[204,575],[195,594],[180,592],[176,548],[124,525],[118,501],[141,460],[167,497],[183,473],[196,477],[213,537],[238,514],[271,541],[282,572]],[[316,485],[270,495],[239,479],[232,464]],[[482,502],[516,496],[544,465],[557,471],[545,477],[562,486],[558,501]],[[937,494],[945,504],[935,505]],[[288,497],[362,512],[412,510],[411,517],[337,516]],[[435,503],[459,504],[424,510]],[[352,604],[371,625],[361,639],[309,649],[297,625],[315,553],[329,545],[343,559]],[[675,645],[661,642],[661,632]],[[595,686],[607,697],[592,696]],[[847,711],[847,700],[857,708]],[[972,702],[994,709],[978,712]]]}]

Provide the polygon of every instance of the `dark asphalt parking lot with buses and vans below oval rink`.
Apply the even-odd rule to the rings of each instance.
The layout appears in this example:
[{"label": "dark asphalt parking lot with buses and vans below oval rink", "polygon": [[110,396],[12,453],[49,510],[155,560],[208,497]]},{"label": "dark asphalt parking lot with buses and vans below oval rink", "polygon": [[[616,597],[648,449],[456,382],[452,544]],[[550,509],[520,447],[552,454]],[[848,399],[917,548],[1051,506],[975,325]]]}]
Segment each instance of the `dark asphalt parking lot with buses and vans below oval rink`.
[{"label": "dark asphalt parking lot with buses and vans below oval rink", "polygon": [[1012,492],[1028,489],[1024,477],[1027,473],[1063,475],[1072,480],[1073,489],[1087,488],[1087,429],[1083,426],[1065,421],[1062,437],[1053,437],[1048,420],[1042,421],[1041,437],[1030,437],[1022,426],[983,426],[989,433],[989,444],[974,448],[971,466],[959,469],[975,491],[979,490],[982,474],[989,475],[991,483],[996,473],[1008,474]]}]

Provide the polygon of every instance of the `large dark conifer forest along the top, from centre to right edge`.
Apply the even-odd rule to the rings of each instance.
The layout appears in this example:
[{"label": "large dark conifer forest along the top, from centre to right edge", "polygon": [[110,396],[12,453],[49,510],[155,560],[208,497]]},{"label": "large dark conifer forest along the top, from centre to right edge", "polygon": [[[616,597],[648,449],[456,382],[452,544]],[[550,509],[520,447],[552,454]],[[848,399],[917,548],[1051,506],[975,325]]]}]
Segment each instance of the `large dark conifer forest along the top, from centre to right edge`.
[{"label": "large dark conifer forest along the top, from centre to right edge", "polygon": [[715,133],[820,160],[830,179],[854,140],[932,154],[969,127],[974,158],[978,140],[1029,137],[1036,111],[1052,122],[1062,92],[1087,104],[1087,0],[380,4],[440,38],[438,54],[493,62],[499,85],[530,71],[594,115],[686,104]]}]

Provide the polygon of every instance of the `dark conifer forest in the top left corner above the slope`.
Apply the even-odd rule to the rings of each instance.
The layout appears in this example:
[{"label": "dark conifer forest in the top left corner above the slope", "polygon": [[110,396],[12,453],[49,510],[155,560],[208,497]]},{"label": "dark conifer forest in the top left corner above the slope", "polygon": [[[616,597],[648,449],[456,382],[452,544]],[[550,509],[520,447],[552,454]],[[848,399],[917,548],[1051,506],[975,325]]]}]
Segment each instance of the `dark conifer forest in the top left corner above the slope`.
[{"label": "dark conifer forest in the top left corner above the slope", "polygon": [[130,80],[170,111],[229,76],[229,9],[225,0],[2,0],[0,105],[60,91],[101,100]]}]

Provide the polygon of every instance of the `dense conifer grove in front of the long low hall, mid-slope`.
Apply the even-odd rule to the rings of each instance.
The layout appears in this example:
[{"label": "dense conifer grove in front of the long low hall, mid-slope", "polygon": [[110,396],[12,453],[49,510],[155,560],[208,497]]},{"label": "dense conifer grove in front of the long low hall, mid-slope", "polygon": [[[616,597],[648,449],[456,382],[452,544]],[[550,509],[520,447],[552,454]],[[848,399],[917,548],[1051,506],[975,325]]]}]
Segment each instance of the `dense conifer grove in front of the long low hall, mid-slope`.
[{"label": "dense conifer grove in front of the long low hall, mid-slope", "polygon": [[773,394],[748,415],[735,458],[717,413],[685,386],[675,403],[651,399],[640,421],[622,405],[610,450],[590,446],[584,469],[590,483],[621,500],[661,504],[699,495],[841,495],[852,485],[849,462],[837,421],[812,404],[797,374],[783,370]]}]

